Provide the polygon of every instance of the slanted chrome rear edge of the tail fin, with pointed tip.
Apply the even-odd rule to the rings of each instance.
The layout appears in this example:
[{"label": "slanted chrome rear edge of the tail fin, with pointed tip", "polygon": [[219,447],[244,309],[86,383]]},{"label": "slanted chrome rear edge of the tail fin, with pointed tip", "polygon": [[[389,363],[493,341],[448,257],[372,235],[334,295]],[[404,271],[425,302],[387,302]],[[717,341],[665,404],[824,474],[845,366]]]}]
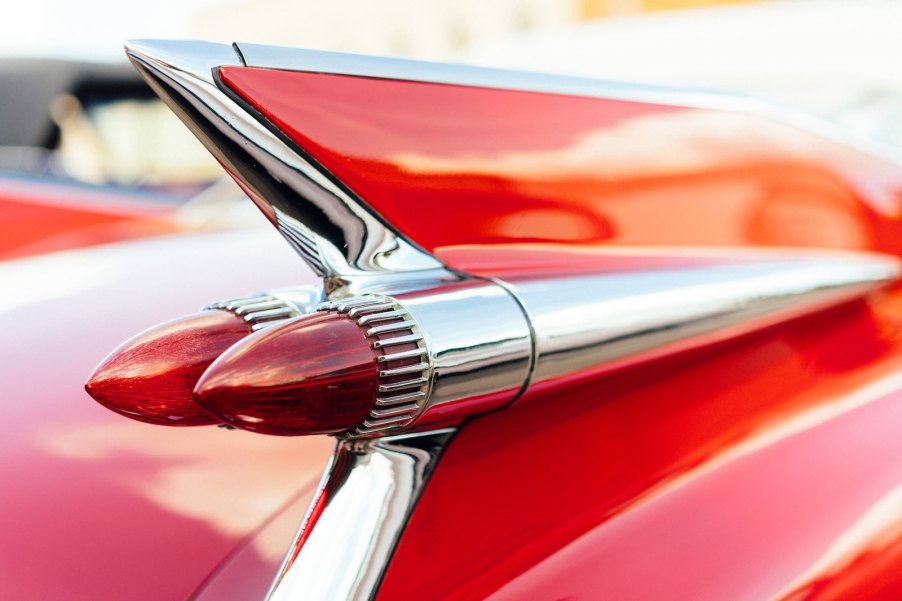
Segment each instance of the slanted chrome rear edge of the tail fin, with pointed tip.
[{"label": "slanted chrome rear edge of the tail fin, with pointed tip", "polygon": [[233,47],[137,40],[126,53],[330,289],[355,275],[443,273],[438,260],[385,225],[217,86],[216,68],[244,65]]}]

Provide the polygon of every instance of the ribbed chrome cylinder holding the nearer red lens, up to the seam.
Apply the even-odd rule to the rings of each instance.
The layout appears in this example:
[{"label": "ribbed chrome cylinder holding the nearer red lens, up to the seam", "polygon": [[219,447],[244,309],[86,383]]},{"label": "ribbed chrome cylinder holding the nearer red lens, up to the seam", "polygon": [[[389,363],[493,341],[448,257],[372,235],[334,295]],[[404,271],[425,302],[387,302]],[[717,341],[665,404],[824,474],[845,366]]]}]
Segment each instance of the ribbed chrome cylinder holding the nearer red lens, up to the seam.
[{"label": "ribbed chrome cylinder holding the nearer red lens, up to the seam", "polygon": [[[526,315],[492,282],[455,282],[394,296],[365,293],[323,303],[320,310],[345,314],[367,337],[403,334],[372,342],[374,350],[386,350],[376,361],[380,378],[391,383],[380,384],[370,417],[350,436],[419,429],[504,407],[522,392],[533,367]],[[389,350],[400,343],[418,345],[418,364],[396,367],[396,359],[409,363],[411,356]],[[394,377],[399,375],[404,377]]]}]

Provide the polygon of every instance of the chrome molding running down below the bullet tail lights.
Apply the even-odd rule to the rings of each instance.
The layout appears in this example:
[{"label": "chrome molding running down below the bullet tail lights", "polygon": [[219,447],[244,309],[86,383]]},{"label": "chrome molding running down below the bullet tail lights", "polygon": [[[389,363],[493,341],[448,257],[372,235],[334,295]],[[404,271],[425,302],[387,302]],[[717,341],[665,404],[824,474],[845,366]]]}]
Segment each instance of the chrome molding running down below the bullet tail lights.
[{"label": "chrome molding running down below the bullet tail lights", "polygon": [[454,432],[337,442],[267,599],[372,599]]}]

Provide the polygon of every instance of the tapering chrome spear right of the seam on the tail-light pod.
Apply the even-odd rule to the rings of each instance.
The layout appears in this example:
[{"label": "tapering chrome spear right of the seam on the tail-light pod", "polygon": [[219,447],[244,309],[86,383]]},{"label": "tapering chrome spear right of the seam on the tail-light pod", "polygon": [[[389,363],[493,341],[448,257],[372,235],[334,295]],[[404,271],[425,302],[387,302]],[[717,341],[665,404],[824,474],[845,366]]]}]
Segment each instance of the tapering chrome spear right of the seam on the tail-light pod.
[{"label": "tapering chrome spear right of the seam on the tail-light pod", "polygon": [[735,336],[863,296],[899,277],[899,262],[887,256],[795,254],[666,271],[510,278],[506,284],[535,330],[532,383],[676,344]]}]

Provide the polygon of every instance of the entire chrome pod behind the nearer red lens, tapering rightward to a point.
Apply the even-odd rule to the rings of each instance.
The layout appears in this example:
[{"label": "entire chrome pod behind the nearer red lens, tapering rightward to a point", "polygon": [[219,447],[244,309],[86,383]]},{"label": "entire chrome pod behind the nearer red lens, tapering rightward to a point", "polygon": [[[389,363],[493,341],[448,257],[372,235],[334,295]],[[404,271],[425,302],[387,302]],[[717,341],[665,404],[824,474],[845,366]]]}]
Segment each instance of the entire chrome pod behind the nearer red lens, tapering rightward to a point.
[{"label": "entire chrome pod behind the nearer red lens, tapering rightward to a point", "polygon": [[[669,269],[364,292],[316,310],[357,323],[374,351],[417,345],[374,358],[384,381],[369,417],[344,434],[372,437],[458,423],[533,385],[747,333],[864,296],[898,275],[899,263],[882,255],[721,253]],[[377,340],[382,332],[399,337]]]}]

